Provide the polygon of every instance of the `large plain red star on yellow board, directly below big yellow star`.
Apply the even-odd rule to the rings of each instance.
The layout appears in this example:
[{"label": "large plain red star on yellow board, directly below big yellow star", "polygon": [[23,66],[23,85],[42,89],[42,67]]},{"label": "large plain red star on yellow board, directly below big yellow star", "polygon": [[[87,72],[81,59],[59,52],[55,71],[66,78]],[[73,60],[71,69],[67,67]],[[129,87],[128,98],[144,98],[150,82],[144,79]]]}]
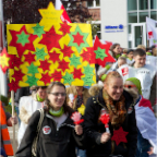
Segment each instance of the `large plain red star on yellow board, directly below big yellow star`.
[{"label": "large plain red star on yellow board, directly below big yellow star", "polygon": [[62,35],[57,34],[55,27],[52,26],[49,32],[43,34],[43,39],[39,41],[39,44],[46,45],[48,51],[50,51],[53,47],[61,49],[59,45],[61,37]]}]

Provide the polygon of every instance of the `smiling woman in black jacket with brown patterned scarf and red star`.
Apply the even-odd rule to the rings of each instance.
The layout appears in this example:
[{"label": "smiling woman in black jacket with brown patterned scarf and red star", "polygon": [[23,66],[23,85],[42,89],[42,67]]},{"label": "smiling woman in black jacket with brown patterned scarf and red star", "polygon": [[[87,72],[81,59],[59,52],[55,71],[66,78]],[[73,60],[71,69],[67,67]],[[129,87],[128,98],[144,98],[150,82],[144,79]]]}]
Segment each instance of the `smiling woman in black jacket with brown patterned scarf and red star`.
[{"label": "smiling woman in black jacket with brown patterned scarf and red star", "polygon": [[[130,111],[133,97],[123,90],[121,75],[117,71],[109,72],[104,87],[96,86],[96,95],[86,102],[84,114],[87,157],[134,157],[137,130],[134,108]],[[105,112],[110,118],[109,132],[100,121]]]}]

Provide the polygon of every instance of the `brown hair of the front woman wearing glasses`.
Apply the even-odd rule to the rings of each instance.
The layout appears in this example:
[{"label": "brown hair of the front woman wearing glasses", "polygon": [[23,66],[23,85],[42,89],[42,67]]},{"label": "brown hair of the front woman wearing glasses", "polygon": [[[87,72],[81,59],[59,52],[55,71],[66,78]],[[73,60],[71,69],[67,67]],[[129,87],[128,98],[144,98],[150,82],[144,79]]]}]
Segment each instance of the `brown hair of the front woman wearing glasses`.
[{"label": "brown hair of the front woman wearing glasses", "polygon": [[[62,83],[60,83],[60,82],[51,82],[49,84],[49,86],[47,87],[47,94],[50,94],[50,92],[53,88],[53,86],[60,86],[60,87],[63,87],[65,89],[65,86]],[[46,109],[46,110],[49,110],[50,101],[49,101],[48,97],[46,98],[46,105],[48,106],[48,109]],[[67,105],[67,98],[65,98],[64,104],[63,104],[63,109],[64,109],[65,113],[67,112],[69,112],[69,113],[72,112],[72,109]]]}]

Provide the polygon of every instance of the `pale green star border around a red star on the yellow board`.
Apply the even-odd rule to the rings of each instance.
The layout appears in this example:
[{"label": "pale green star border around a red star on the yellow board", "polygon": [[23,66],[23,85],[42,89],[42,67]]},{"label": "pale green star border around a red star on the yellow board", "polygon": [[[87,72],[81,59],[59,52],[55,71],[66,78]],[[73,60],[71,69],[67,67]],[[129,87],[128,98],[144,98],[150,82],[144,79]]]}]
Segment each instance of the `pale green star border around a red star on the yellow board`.
[{"label": "pale green star border around a red star on the yellow board", "polygon": [[[74,41],[73,35],[76,35],[77,33],[80,33],[80,35],[84,36],[83,37],[84,43],[82,43],[80,46],[76,43],[73,43]],[[69,34],[69,36],[71,38],[71,40],[69,43],[69,46],[76,47],[77,51],[81,52],[83,47],[89,47],[89,45],[86,41],[86,38],[87,38],[88,35],[89,35],[88,33],[82,33],[82,31],[80,29],[80,27],[77,25],[75,32],[71,32],[71,34]]]}]

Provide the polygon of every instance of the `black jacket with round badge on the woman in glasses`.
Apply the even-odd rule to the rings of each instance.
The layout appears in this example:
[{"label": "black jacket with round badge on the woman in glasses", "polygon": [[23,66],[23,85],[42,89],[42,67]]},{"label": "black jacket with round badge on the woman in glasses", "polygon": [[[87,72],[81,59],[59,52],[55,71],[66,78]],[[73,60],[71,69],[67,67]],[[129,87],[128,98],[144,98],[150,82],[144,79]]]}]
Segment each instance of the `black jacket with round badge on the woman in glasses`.
[{"label": "black jacket with round badge on the woman in glasses", "polygon": [[[32,157],[32,144],[37,134],[39,117],[38,110],[32,116],[16,157]],[[82,148],[83,136],[75,134],[74,124],[70,117],[71,114],[57,129],[52,117],[45,114],[37,143],[37,157],[76,157],[75,146]],[[49,134],[44,133],[45,126],[50,126],[51,132]]]}]

